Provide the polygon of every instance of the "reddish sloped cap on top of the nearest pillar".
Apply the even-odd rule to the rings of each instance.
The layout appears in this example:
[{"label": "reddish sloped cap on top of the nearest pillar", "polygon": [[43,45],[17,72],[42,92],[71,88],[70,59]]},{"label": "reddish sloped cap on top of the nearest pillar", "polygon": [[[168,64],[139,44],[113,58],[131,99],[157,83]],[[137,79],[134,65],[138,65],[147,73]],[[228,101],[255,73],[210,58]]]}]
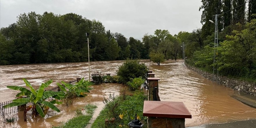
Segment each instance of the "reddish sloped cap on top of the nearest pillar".
[{"label": "reddish sloped cap on top of the nearest pillar", "polygon": [[192,118],[183,102],[144,101],[143,116],[164,118]]}]

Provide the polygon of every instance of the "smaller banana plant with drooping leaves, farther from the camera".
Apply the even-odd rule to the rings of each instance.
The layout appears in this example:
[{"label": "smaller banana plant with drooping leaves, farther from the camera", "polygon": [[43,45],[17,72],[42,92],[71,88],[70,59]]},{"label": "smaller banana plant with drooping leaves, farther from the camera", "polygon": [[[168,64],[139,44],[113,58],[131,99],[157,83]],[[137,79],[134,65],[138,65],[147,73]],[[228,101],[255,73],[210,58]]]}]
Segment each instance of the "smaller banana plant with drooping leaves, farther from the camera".
[{"label": "smaller banana plant with drooping leaves, farther from the camera", "polygon": [[62,86],[60,83],[57,83],[57,85],[60,87],[62,94],[65,95],[65,93],[68,93],[69,91],[75,91],[78,97],[85,97],[87,96],[85,93],[90,93],[90,87],[93,85],[92,82],[84,81],[84,78],[82,78],[79,82],[75,83],[75,85],[72,85],[70,83],[65,83],[64,81],[61,81],[61,83],[65,86]]}]

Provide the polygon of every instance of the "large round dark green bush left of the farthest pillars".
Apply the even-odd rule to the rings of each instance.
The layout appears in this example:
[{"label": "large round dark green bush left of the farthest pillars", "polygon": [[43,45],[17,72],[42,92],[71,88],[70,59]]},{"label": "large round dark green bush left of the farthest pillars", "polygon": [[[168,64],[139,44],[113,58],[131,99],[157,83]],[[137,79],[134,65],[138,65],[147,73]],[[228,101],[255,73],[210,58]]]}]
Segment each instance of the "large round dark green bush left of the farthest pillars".
[{"label": "large round dark green bush left of the farthest pillars", "polygon": [[144,63],[139,63],[136,60],[127,59],[122,66],[119,67],[117,75],[122,83],[130,81],[130,79],[142,77],[145,79],[147,66]]}]

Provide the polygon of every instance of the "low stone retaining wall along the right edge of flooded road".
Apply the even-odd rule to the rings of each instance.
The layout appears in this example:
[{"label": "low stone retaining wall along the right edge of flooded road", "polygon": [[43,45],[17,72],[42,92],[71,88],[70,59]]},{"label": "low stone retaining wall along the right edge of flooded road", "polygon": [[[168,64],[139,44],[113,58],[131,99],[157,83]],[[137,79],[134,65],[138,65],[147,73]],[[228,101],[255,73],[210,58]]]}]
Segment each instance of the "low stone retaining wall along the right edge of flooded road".
[{"label": "low stone retaining wall along the right edge of flooded road", "polygon": [[[190,66],[189,64],[185,63],[186,67],[189,69],[197,72],[200,74],[202,77],[209,79],[213,81],[213,74],[209,72],[202,71],[196,67]],[[216,75],[214,75],[216,78]],[[256,79],[256,78],[255,78]],[[217,81],[214,81],[217,82]],[[232,88],[234,90],[237,90],[239,92],[247,93],[253,96],[256,96],[256,83],[253,82],[248,82],[248,81],[242,81],[239,79],[232,79],[232,78],[227,78],[225,76],[219,76],[219,84],[226,86],[228,88]]]}]

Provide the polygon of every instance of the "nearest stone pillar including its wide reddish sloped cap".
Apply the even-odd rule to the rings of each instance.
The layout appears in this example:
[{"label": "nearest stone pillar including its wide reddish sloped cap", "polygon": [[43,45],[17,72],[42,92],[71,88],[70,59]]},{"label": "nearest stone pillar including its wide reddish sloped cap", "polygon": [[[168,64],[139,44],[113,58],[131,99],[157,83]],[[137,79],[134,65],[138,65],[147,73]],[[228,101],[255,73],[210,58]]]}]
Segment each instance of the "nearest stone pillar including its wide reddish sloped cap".
[{"label": "nearest stone pillar including its wide reddish sloped cap", "polygon": [[143,116],[148,128],[185,128],[185,118],[192,118],[183,102],[144,101]]}]

